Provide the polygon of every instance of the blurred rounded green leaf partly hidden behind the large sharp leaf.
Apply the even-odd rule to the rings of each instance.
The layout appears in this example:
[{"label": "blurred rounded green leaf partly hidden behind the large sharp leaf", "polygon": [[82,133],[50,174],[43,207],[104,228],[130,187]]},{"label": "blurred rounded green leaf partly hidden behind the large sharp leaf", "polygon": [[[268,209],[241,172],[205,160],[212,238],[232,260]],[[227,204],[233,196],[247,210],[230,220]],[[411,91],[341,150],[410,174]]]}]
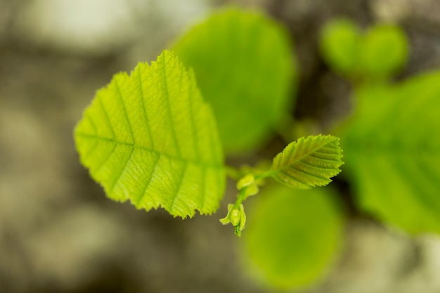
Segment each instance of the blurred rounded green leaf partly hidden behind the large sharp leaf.
[{"label": "blurred rounded green leaf partly hidden behind the large sharp leaf", "polygon": [[226,152],[255,150],[290,111],[296,67],[287,33],[266,16],[229,9],[174,45],[212,105]]}]

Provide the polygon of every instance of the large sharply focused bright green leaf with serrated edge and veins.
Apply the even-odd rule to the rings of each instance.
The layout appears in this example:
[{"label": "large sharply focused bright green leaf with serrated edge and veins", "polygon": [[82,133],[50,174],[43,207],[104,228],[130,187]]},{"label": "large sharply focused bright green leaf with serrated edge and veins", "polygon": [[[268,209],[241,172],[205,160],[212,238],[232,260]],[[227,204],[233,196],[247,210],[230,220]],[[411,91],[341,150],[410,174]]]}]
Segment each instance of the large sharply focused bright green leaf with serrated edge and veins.
[{"label": "large sharply focused bright green leaf with serrated edge and veins", "polygon": [[183,218],[219,207],[225,175],[214,117],[193,72],[169,51],[115,74],[84,111],[75,142],[112,200]]}]

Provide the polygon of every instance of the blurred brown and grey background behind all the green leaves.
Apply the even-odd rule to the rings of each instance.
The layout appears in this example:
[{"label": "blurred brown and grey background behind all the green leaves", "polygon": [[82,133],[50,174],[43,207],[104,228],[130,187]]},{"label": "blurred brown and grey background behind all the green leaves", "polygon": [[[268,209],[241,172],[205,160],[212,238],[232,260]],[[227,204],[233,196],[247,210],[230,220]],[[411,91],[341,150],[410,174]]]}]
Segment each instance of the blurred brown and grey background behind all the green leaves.
[{"label": "blurred brown and grey background behind all the green leaves", "polygon": [[[112,74],[155,60],[216,8],[261,8],[288,28],[300,67],[295,118],[332,124],[350,86],[318,53],[323,24],[393,22],[410,60],[397,77],[440,67],[437,0],[0,0],[0,292],[269,292],[238,261],[240,239],[214,216],[181,221],[105,197],[72,137]],[[275,140],[267,146],[280,148]],[[252,162],[255,157],[247,158]],[[408,237],[350,211],[342,256],[304,292],[440,292],[440,241]],[[246,230],[244,231],[244,233]]]}]

